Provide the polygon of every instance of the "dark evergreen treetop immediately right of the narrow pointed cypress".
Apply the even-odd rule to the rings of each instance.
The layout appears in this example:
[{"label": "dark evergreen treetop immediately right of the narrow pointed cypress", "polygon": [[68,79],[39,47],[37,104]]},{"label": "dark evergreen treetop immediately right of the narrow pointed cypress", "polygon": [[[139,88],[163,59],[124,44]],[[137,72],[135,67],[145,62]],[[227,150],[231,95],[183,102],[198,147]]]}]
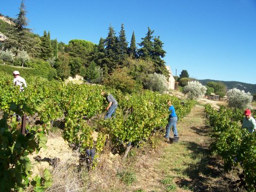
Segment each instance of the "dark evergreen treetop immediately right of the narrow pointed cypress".
[{"label": "dark evergreen treetop immediately right of the narrow pointed cypress", "polygon": [[152,42],[153,33],[154,33],[154,30],[151,31],[150,28],[148,27],[148,33],[146,34],[146,37],[141,38],[142,42],[139,43],[139,46],[141,46],[141,48],[138,50],[139,58],[145,59],[145,60],[151,59],[151,54],[153,52],[153,42]]}]

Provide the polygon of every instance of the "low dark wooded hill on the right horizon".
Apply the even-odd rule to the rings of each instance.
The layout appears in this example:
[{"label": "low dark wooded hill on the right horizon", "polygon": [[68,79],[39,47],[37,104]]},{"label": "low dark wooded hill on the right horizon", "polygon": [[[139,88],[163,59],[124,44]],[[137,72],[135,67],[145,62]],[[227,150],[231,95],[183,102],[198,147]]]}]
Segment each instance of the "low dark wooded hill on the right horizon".
[{"label": "low dark wooded hill on the right horizon", "polygon": [[202,79],[198,80],[202,85],[206,85],[207,82],[222,82],[228,89],[237,88],[239,90],[244,90],[245,92],[250,92],[251,94],[256,94],[256,84],[242,83],[236,81],[217,81],[212,79]]}]

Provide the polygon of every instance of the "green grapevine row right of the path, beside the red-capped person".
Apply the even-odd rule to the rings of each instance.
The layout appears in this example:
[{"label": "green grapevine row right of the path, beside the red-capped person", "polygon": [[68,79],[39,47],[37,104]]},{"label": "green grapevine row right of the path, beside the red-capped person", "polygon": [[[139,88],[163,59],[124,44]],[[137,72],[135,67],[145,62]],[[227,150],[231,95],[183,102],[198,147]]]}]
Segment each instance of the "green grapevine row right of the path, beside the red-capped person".
[{"label": "green grapevine row right of the path, beside the red-capped person", "polygon": [[247,191],[255,191],[256,188],[256,135],[241,129],[243,111],[220,107],[213,109],[205,106],[206,117],[211,126],[213,151],[222,157],[225,169],[237,170],[239,179],[232,185]]}]

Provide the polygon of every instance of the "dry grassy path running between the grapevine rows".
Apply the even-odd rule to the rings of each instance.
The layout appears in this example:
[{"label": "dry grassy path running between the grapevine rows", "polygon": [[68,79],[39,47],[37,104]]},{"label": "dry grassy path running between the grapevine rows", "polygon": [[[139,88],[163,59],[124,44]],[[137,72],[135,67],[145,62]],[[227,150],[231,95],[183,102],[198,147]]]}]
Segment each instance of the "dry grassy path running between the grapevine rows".
[{"label": "dry grassy path running between the grapevine rows", "polygon": [[[158,150],[138,157],[137,182],[130,191],[225,191],[221,162],[209,154],[204,107],[196,105],[178,121],[179,142],[161,142]],[[159,136],[160,137],[160,136]]]}]

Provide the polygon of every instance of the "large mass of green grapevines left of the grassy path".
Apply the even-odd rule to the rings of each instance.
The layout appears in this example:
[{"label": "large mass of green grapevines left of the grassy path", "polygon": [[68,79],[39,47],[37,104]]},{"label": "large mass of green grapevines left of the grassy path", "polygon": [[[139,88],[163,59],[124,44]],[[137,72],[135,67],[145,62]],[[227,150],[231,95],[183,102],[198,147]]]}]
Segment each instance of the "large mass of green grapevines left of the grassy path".
[{"label": "large mass of green grapevines left of the grassy path", "polygon": [[[45,148],[47,133],[55,122],[62,122],[63,138],[75,146],[81,157],[100,157],[106,141],[116,146],[143,146],[152,133],[167,123],[167,101],[172,100],[179,119],[188,114],[194,101],[151,91],[123,94],[109,89],[118,101],[116,117],[103,119],[107,101],[101,95],[106,87],[87,84],[65,84],[44,78],[26,79],[28,87],[20,92],[12,77],[0,77],[1,191],[22,190],[33,186],[42,191],[51,186],[51,174],[31,178],[29,154]],[[27,116],[26,133],[21,134],[17,115]],[[93,140],[92,132],[98,132]],[[122,150],[119,150],[122,151]],[[90,152],[90,153],[89,153]],[[124,151],[123,151],[124,152]],[[127,152],[127,151],[126,151]],[[97,166],[97,161],[90,165]]]}]

